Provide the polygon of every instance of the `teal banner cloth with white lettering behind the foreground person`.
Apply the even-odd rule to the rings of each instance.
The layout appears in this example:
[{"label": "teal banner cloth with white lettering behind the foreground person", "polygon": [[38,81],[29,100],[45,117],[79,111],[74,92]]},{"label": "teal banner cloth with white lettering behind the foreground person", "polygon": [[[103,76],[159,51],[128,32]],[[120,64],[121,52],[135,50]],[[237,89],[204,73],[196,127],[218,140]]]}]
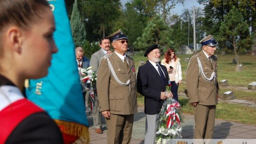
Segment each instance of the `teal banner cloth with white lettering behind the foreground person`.
[{"label": "teal banner cloth with white lettering behind the foreground person", "polygon": [[53,54],[52,65],[45,78],[29,80],[26,95],[53,119],[88,126],[65,1],[48,2],[55,17],[54,39],[58,53]]}]

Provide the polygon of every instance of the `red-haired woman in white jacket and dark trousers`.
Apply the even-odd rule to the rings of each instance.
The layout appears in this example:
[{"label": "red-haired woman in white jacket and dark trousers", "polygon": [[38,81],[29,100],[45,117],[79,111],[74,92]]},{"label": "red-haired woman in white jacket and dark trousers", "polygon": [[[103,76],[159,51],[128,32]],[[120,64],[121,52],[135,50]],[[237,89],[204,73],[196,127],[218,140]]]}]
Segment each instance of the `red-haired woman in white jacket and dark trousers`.
[{"label": "red-haired woman in white jacket and dark trousers", "polygon": [[173,99],[178,101],[178,87],[182,81],[182,69],[180,59],[175,55],[174,49],[169,48],[165,53],[165,58],[161,61],[162,65],[168,70],[169,80],[171,82],[171,91]]}]

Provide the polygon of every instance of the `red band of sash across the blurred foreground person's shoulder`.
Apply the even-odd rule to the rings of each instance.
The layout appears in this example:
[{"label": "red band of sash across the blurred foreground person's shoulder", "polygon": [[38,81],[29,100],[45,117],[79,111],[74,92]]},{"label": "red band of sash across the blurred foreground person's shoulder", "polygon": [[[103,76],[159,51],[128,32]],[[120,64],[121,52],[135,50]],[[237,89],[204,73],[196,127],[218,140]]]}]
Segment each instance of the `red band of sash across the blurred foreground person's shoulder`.
[{"label": "red band of sash across the blurred foreground person's shoulder", "polygon": [[26,117],[44,111],[27,99],[20,99],[0,111],[0,144],[4,144],[11,132]]}]

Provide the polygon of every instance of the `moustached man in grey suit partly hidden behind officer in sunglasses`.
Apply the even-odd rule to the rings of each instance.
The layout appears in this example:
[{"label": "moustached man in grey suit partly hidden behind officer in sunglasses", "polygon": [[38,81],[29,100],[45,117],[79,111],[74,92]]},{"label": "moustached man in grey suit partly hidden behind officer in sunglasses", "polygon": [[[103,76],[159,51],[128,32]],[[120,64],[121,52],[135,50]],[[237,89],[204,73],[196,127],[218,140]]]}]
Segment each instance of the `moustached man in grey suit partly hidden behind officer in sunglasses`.
[{"label": "moustached man in grey suit partly hidden behind officer in sunglasses", "polygon": [[[110,51],[110,38],[109,37],[102,37],[100,41],[101,49],[94,54],[91,55],[90,66],[92,66],[91,70],[94,72],[98,72],[99,65],[101,62],[101,58],[106,54],[112,54]],[[93,84],[94,90],[94,109],[93,109],[93,126],[95,128],[95,132],[98,134],[102,134],[102,115],[100,113],[99,107],[99,99],[97,94],[97,87],[96,82]]]}]

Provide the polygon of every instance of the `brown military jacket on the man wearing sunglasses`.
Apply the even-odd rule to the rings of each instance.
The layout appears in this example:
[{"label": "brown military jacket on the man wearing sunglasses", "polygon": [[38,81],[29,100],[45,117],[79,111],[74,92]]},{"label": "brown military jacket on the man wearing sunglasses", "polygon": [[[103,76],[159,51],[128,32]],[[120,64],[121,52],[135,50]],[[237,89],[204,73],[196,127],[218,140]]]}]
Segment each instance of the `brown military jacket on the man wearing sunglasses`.
[{"label": "brown military jacket on the man wearing sunglasses", "polygon": [[111,54],[108,58],[119,80],[123,83],[130,80],[130,85],[122,86],[114,79],[108,61],[103,57],[97,75],[100,111],[110,110],[111,114],[119,115],[137,113],[136,72],[133,59],[126,56],[129,65],[127,69],[116,53]]}]

